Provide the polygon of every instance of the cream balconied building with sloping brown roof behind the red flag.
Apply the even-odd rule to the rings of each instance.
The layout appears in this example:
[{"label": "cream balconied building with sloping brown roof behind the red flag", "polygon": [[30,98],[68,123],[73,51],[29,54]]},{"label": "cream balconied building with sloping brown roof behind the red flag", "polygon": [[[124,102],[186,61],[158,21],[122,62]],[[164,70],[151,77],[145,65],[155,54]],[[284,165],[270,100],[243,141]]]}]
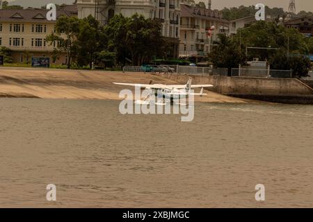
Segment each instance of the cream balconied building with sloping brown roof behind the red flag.
[{"label": "cream balconied building with sloping brown roof behind the red flag", "polygon": [[228,30],[228,22],[218,10],[181,4],[179,56],[206,56],[218,33]]}]

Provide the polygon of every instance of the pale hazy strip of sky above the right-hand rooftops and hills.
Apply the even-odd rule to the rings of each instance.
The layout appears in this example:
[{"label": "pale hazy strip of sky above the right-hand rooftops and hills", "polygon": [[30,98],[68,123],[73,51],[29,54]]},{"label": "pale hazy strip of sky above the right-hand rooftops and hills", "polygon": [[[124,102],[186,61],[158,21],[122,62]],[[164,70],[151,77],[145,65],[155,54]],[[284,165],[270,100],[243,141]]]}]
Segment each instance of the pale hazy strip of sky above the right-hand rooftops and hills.
[{"label": "pale hazy strip of sky above the right-hand rooftops and hills", "polygon": [[[207,5],[208,0],[195,0],[196,2],[204,1]],[[264,3],[265,5],[273,8],[284,8],[288,10],[289,0],[211,0],[213,9],[221,9],[224,7],[237,7],[237,6],[249,6],[257,3]],[[296,0],[296,11],[300,10],[312,11],[313,12],[313,0]]]}]

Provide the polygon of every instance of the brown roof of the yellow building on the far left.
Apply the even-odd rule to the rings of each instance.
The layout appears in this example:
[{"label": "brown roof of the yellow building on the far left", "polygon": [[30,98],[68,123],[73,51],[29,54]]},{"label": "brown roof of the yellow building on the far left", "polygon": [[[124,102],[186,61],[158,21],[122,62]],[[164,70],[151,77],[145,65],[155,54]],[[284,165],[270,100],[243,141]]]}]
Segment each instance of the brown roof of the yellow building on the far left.
[{"label": "brown roof of the yellow building on the far left", "polygon": [[[72,8],[73,9],[73,8]],[[27,8],[21,10],[14,9],[2,9],[0,10],[0,22],[49,22],[54,23],[55,21],[48,21],[46,18],[49,10],[39,8]],[[61,15],[73,16],[76,15],[74,10],[67,10],[62,8],[56,11],[56,17]]]}]

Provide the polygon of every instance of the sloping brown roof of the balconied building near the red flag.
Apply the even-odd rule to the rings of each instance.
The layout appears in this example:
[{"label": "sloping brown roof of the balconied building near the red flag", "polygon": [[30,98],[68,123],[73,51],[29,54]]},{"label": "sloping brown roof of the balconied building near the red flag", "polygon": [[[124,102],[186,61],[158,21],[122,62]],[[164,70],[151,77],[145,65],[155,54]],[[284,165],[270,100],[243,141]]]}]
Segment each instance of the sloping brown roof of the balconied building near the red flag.
[{"label": "sloping brown roof of the balconied building near the red flag", "polygon": [[181,17],[197,17],[200,19],[213,20],[218,22],[228,22],[223,19],[223,13],[218,10],[209,10],[207,8],[198,8],[195,6],[180,5]]}]

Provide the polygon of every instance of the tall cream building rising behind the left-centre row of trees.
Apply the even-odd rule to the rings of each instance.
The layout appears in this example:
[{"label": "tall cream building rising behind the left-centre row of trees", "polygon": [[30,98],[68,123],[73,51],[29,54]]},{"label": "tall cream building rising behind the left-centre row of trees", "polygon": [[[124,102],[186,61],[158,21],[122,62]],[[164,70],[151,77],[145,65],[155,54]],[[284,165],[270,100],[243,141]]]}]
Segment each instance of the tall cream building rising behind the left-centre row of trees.
[{"label": "tall cream building rising behind the left-centre row of trees", "polygon": [[172,43],[168,56],[178,56],[179,46],[179,0],[77,0],[78,17],[95,16],[106,24],[115,14],[131,17],[138,13],[145,18],[159,19],[162,35]]}]

